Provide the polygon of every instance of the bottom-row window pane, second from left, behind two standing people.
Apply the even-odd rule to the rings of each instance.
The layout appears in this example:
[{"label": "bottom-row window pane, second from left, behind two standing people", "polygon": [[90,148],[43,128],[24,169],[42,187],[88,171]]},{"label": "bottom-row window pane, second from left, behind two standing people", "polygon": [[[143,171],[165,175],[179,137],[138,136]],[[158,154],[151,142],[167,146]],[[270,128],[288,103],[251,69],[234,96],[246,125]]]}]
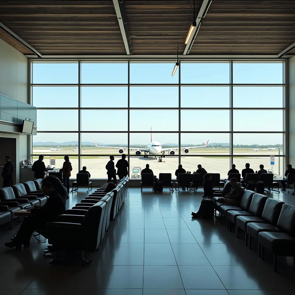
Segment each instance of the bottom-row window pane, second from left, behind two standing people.
[{"label": "bottom-row window pane, second from left, behind two standing people", "polygon": [[[115,157],[115,165],[121,158],[121,156]],[[109,160],[110,158],[108,156],[82,156],[81,167],[86,166],[87,171],[91,174],[91,178],[108,178],[106,174],[106,163]],[[119,182],[118,176],[117,181]]]}]

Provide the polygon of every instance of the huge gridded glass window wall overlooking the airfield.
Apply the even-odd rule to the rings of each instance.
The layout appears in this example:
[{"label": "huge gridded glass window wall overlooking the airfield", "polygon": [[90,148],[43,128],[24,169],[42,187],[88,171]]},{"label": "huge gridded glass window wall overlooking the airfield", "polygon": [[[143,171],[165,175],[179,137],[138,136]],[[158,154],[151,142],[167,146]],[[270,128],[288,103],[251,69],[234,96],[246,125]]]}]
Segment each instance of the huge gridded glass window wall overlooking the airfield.
[{"label": "huge gridded glass window wall overlooking the airfield", "polygon": [[[32,158],[45,155],[72,177],[83,166],[91,178],[106,178],[110,155],[122,153],[131,178],[150,165],[155,175],[181,163],[193,173],[227,177],[263,164],[284,173],[285,84],[283,62],[103,63],[32,61],[32,104],[37,135]],[[274,156],[271,165],[270,157]]]}]

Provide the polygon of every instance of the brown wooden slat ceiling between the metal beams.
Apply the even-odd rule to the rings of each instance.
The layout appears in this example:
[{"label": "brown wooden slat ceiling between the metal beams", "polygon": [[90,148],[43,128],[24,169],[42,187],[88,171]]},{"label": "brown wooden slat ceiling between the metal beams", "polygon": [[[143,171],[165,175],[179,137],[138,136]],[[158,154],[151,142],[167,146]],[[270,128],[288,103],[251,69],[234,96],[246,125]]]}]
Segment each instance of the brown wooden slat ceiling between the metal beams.
[{"label": "brown wooden slat ceiling between the metal beams", "polygon": [[[202,0],[195,1],[196,15]],[[126,0],[133,54],[182,54],[193,1]],[[0,22],[43,55],[126,55],[112,0],[0,1]],[[0,38],[24,54],[23,45]],[[295,0],[213,0],[190,54],[276,55],[295,42]],[[294,53],[294,50],[291,51]]]}]

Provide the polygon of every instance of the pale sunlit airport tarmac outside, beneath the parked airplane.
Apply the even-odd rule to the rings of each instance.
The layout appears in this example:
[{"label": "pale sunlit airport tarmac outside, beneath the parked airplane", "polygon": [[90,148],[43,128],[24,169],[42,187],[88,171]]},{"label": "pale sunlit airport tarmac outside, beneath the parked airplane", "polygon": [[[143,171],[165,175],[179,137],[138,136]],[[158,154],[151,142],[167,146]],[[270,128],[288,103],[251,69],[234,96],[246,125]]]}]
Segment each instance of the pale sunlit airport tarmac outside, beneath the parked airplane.
[{"label": "pale sunlit airport tarmac outside, beneath the parked airplane", "polygon": [[[93,150],[91,153],[94,154],[94,151],[96,152],[95,156],[85,156],[83,157],[83,149],[82,149],[82,156],[81,156],[81,167],[86,166],[87,170],[91,173],[92,178],[106,178],[106,169],[105,165],[109,160],[108,156],[100,156],[97,154],[97,149],[89,148],[87,150],[88,153],[90,153],[90,149]],[[255,152],[253,149],[237,149],[234,150],[234,163],[237,166],[237,169],[241,172],[242,169],[245,168],[245,163],[250,163],[250,167],[253,168],[254,171],[259,170],[259,165],[263,164],[264,168],[266,170],[273,169],[273,173],[279,174],[278,169],[278,157],[275,157],[275,165],[270,165],[270,154],[274,154],[273,152],[278,152],[277,150],[260,150],[259,152]],[[252,151],[251,151],[252,150]],[[47,152],[46,152],[47,151]],[[104,154],[111,154],[113,149],[104,149],[103,151],[100,151],[100,153]],[[73,171],[72,176],[75,177],[76,173],[78,173],[78,156],[74,153],[71,154],[70,149],[61,149],[59,151],[50,151],[45,149],[35,149],[33,150],[34,154],[44,154],[44,163],[45,165],[49,164],[49,156],[46,154],[51,154],[55,156],[55,168],[61,168],[63,165],[63,155],[67,154],[70,156],[70,161],[72,163]],[[230,169],[230,157],[222,157],[219,153],[223,153],[225,155],[225,151],[222,149],[198,149],[198,154],[196,156],[186,156],[181,153],[181,164],[183,165],[183,168],[187,171],[191,171],[192,173],[196,171],[196,166],[198,164],[201,164],[208,173],[220,173],[221,178],[227,178],[227,172]],[[77,154],[77,153],[76,153]],[[202,156],[204,155],[214,155],[215,157],[210,156]],[[247,157],[243,157],[241,155],[249,155]],[[117,160],[119,160],[121,157],[119,154],[115,154],[115,164],[117,163]],[[194,153],[189,153],[189,155],[194,155]],[[219,156],[218,156],[219,155]],[[268,155],[267,157],[261,157],[261,155]],[[37,160],[37,156],[33,156],[33,161]],[[132,168],[134,167],[140,167],[141,169],[145,168],[146,164],[150,165],[150,168],[153,170],[155,175],[159,175],[159,173],[171,173],[172,177],[175,178],[175,170],[178,166],[178,156],[171,157],[166,156],[165,158],[162,158],[162,162],[158,162],[158,155],[157,160],[154,159],[154,156],[149,156],[148,158],[144,158],[143,156],[137,157],[132,155],[130,157],[130,177],[138,178],[139,175],[136,175],[135,173],[132,173]],[[280,175],[282,175],[285,172],[285,169],[283,169],[283,158],[281,158],[280,161]]]}]

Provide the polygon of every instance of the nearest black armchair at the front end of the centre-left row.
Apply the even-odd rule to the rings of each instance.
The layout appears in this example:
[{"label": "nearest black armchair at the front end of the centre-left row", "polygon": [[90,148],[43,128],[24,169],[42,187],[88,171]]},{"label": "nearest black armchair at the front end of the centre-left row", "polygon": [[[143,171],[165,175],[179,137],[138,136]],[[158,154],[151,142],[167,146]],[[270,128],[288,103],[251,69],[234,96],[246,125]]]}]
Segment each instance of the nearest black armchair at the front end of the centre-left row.
[{"label": "nearest black armchair at the front end of the centre-left row", "polygon": [[[91,261],[84,258],[84,252],[94,252],[99,248],[106,203],[99,201],[85,215],[60,215],[62,222],[46,224],[48,243],[58,250],[81,251],[82,263],[89,265]],[[81,223],[73,222],[74,219]]]}]

